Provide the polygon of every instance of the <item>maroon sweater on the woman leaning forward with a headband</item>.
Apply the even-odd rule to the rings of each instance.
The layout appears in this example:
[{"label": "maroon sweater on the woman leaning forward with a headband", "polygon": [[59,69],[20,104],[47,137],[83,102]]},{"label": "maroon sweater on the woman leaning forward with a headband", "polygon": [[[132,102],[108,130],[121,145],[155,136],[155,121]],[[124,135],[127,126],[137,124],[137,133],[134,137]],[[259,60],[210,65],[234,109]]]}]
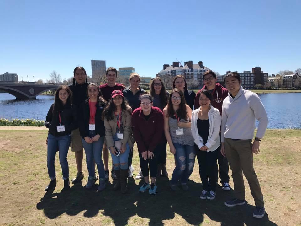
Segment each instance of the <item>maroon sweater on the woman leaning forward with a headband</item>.
[{"label": "maroon sweater on the woman leaning forward with a headband", "polygon": [[154,152],[163,138],[163,113],[160,108],[151,107],[150,117],[146,121],[141,107],[133,111],[132,128],[140,153]]}]

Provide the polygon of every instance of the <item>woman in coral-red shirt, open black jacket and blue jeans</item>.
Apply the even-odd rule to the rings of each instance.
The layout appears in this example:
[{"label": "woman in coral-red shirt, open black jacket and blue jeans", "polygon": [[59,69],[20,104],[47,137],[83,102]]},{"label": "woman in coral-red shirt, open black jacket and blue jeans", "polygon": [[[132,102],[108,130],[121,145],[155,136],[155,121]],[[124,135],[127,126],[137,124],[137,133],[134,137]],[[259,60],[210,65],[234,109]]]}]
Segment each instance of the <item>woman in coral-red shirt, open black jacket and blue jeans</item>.
[{"label": "woman in coral-red shirt, open black jacket and blue jeans", "polygon": [[105,138],[105,127],[102,113],[106,101],[101,96],[100,89],[96,83],[90,83],[87,88],[89,98],[81,104],[81,115],[79,130],[82,136],[82,144],[86,153],[86,162],[89,172],[86,189],[91,189],[95,183],[95,165],[99,174],[98,191],[103,191],[105,184],[105,170],[102,159],[103,143]]}]

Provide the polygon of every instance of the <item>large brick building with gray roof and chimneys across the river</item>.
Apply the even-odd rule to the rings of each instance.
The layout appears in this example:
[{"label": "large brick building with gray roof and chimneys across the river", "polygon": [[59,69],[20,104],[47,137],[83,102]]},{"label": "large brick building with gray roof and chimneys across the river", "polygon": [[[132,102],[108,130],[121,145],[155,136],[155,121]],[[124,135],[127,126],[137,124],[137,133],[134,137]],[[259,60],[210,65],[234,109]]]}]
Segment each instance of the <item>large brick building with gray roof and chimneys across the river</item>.
[{"label": "large brick building with gray roof and chimneys across the river", "polygon": [[182,74],[185,76],[188,86],[190,83],[197,83],[198,87],[203,86],[203,74],[209,70],[208,67],[203,66],[203,62],[193,64],[192,61],[186,61],[184,66],[180,62],[173,62],[172,65],[164,64],[163,70],[158,72],[157,76],[162,79],[168,89],[172,87],[173,78],[176,75]]}]

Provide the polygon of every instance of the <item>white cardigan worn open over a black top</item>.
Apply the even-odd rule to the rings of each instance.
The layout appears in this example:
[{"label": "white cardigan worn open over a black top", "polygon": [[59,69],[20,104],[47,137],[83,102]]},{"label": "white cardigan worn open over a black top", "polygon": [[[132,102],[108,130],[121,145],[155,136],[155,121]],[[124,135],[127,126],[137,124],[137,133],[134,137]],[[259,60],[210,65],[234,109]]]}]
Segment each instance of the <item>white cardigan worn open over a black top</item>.
[{"label": "white cardigan worn open over a black top", "polygon": [[200,111],[200,108],[194,110],[191,115],[191,133],[194,138],[194,143],[198,145],[198,148],[201,148],[204,145],[206,145],[208,151],[215,151],[220,145],[219,130],[220,130],[221,117],[220,117],[219,110],[210,105],[210,110],[208,112],[209,135],[208,135],[207,143],[203,144],[204,143],[203,138],[198,134],[198,127],[197,127],[198,112]]}]

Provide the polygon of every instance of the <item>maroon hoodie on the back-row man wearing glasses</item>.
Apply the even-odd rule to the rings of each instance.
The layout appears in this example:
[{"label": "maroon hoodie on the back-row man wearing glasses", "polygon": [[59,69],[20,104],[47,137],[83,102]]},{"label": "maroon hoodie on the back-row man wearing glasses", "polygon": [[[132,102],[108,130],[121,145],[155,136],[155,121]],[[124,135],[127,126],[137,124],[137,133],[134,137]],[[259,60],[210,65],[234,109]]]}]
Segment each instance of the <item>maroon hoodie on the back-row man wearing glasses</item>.
[{"label": "maroon hoodie on the back-row man wearing glasses", "polygon": [[[206,86],[203,86],[201,90],[198,91],[197,95],[195,96],[194,99],[194,109],[198,109],[200,107],[199,105],[199,98],[200,98],[200,92],[203,89],[207,89]],[[217,94],[216,94],[217,91]],[[228,90],[224,88],[221,84],[216,83],[215,84],[215,89],[213,90],[212,93],[213,96],[213,101],[211,105],[219,110],[220,115],[222,115],[222,107],[223,107],[223,101],[224,99],[228,96]]]}]

